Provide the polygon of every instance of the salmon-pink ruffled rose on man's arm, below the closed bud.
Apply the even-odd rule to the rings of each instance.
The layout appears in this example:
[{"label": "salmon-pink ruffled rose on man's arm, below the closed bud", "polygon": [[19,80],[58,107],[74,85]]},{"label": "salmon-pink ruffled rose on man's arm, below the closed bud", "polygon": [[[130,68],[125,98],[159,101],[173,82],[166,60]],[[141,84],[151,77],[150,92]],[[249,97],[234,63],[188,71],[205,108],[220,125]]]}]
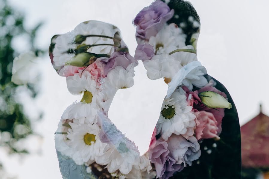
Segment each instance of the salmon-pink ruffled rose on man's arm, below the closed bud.
[{"label": "salmon-pink ruffled rose on man's arm, below the closed bud", "polygon": [[194,130],[197,140],[219,138],[218,122],[210,112],[200,111],[197,115],[197,127]]}]

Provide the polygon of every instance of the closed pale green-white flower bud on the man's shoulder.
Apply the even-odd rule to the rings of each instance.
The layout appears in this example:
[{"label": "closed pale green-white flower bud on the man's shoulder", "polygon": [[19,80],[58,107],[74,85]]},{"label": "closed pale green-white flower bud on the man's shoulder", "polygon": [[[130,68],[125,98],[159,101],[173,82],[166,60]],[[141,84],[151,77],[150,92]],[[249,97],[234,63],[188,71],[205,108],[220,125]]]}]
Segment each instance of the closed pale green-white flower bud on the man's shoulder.
[{"label": "closed pale green-white flower bud on the man's shoulder", "polygon": [[198,94],[203,104],[209,108],[227,108],[231,109],[232,104],[229,103],[222,95],[214,91],[205,91]]}]

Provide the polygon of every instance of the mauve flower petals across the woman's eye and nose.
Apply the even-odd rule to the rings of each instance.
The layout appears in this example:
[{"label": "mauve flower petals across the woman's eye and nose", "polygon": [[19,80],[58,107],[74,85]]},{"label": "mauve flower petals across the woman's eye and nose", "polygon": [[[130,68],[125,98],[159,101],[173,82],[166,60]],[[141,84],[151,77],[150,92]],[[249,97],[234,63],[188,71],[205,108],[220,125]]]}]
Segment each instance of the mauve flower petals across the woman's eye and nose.
[{"label": "mauve flower petals across the woman's eye and nose", "polygon": [[138,64],[138,62],[132,57],[132,55],[125,52],[114,52],[111,54],[109,59],[102,61],[106,64],[104,67],[105,75],[107,75],[107,73],[110,70],[114,69],[116,66],[121,66],[124,69],[126,69],[128,65],[130,65],[133,62]]}]

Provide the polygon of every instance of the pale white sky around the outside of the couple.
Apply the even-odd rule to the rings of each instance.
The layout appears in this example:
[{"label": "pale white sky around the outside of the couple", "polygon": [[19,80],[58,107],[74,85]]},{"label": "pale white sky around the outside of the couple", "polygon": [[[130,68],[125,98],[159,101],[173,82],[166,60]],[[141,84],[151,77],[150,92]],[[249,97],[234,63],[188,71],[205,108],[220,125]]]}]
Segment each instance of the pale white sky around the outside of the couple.
[{"label": "pale white sky around the outside of the couple", "polygon": [[[238,110],[241,125],[259,112],[269,114],[268,81],[268,5],[269,1],[190,0],[201,19],[198,40],[198,59],[208,74],[229,90]],[[54,34],[66,33],[86,20],[100,20],[115,24],[134,55],[135,27],[132,20],[151,0],[9,0],[26,14],[27,27],[45,21],[39,31],[37,44],[48,48]],[[47,56],[44,59],[41,95],[38,107],[45,113],[36,122],[35,130],[43,135],[42,155],[29,155],[18,163],[17,157],[0,155],[7,172],[19,179],[61,178],[54,131],[63,110],[80,98],[72,96],[65,78],[53,70]],[[34,144],[29,144],[30,146]]]}]

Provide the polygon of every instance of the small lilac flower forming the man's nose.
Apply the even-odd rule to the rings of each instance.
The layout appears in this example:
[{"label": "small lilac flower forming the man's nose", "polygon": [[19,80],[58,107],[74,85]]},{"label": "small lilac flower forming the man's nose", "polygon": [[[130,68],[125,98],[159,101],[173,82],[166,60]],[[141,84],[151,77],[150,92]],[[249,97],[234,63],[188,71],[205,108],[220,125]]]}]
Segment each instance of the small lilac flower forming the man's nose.
[{"label": "small lilac flower forming the man's nose", "polygon": [[145,60],[151,59],[153,56],[155,56],[155,54],[152,45],[150,44],[137,45],[135,52],[136,60],[142,60],[142,62],[144,62]]}]

